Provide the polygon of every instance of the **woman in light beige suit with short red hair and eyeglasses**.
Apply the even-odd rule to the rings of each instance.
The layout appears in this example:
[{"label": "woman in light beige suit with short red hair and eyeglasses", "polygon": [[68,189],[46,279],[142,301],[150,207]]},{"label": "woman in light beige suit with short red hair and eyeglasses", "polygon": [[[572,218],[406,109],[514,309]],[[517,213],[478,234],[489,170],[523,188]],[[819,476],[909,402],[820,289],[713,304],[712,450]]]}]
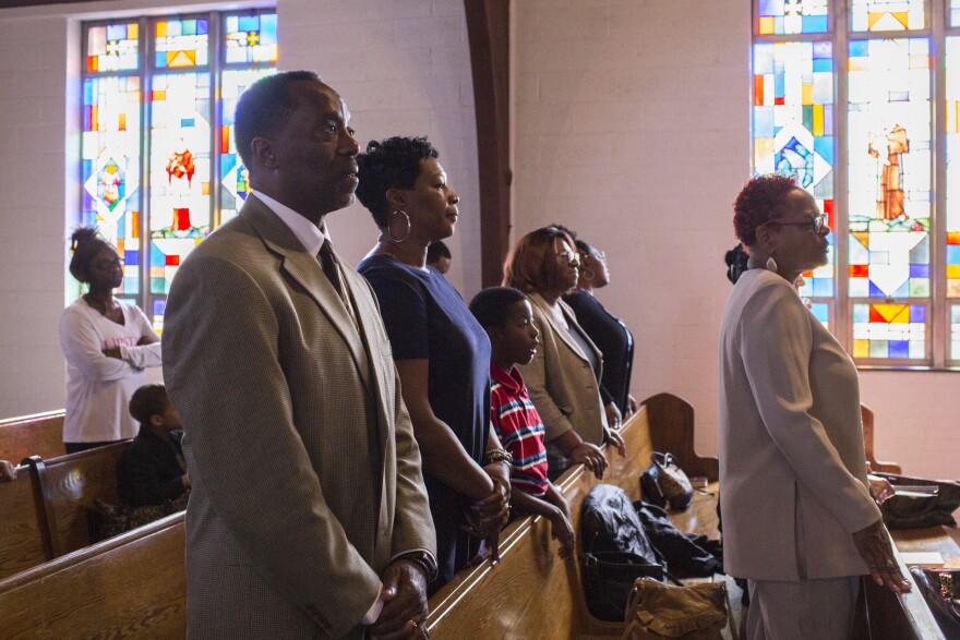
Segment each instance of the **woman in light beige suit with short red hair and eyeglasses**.
[{"label": "woman in light beige suit with short red hair and eyeglasses", "polygon": [[733,209],[749,259],[720,330],[724,570],[748,581],[748,638],[845,640],[861,576],[910,583],[868,490],[856,367],[793,286],[827,263],[830,228],[784,176]]}]

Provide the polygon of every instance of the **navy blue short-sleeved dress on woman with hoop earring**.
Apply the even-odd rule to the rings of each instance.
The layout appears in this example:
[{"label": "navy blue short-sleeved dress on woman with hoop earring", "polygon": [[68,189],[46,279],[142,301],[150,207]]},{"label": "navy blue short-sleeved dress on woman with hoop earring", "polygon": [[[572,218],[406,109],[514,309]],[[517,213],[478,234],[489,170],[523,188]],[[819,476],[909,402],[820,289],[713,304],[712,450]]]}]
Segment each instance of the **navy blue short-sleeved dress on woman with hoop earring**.
[{"label": "navy blue short-sleeved dress on woman with hoop earring", "polygon": [[[490,432],[490,339],[469,307],[441,274],[420,270],[387,255],[357,266],[373,287],[394,360],[427,359],[428,398],[434,415],[482,463]],[[479,541],[460,531],[470,500],[429,473],[423,474],[436,529],[439,579],[435,591],[465,568]]]}]

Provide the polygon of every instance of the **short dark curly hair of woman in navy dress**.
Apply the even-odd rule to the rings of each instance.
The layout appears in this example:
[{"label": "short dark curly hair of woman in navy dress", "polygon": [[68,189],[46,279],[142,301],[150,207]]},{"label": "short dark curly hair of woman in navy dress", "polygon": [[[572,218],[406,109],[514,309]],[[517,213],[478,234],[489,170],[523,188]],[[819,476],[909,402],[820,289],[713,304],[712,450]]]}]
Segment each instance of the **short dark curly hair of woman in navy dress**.
[{"label": "short dark curly hair of woman in navy dress", "polygon": [[387,137],[367,144],[367,153],[357,156],[357,198],[373,215],[381,229],[389,222],[388,189],[413,189],[420,176],[420,162],[437,158],[440,153],[425,137]]}]

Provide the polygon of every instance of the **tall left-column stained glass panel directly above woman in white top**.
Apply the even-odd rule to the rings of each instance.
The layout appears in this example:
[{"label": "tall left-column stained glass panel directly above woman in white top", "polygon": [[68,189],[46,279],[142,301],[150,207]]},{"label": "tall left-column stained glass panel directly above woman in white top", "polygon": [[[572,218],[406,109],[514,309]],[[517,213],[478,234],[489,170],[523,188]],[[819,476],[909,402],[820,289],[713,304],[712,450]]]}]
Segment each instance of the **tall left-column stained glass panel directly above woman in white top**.
[{"label": "tall left-column stained glass panel directly above woman in white top", "polygon": [[82,222],[125,259],[121,295],[140,292],[140,98],[137,77],[83,82]]}]

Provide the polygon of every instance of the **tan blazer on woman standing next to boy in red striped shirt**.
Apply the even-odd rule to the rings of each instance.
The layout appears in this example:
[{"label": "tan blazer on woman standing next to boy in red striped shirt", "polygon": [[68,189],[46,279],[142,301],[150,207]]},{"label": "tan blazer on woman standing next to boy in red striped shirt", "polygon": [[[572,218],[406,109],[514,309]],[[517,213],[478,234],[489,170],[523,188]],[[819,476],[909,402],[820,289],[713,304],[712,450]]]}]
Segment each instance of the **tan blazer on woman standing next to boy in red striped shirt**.
[{"label": "tan blazer on woman standing next to boy in red striped shirt", "polygon": [[533,325],[540,331],[540,346],[530,364],[520,367],[530,400],[543,420],[547,431],[548,451],[557,455],[550,440],[569,430],[576,431],[584,440],[600,445],[603,443],[603,428],[607,413],[600,399],[600,379],[603,354],[587,338],[577,324],[573,310],[562,300],[557,301],[564,319],[572,331],[579,331],[593,349],[597,370],[590,366],[579,346],[569,337],[567,330],[557,322],[550,305],[539,293],[529,293],[533,309]]}]

